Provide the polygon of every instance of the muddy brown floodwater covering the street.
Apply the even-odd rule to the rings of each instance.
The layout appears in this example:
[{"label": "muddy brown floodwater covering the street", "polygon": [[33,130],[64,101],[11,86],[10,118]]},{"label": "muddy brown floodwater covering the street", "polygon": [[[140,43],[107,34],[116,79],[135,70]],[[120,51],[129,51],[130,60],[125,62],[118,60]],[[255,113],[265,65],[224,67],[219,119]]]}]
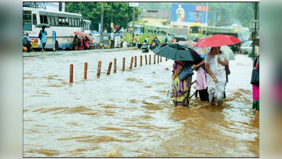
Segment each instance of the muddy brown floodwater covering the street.
[{"label": "muddy brown floodwater covering the street", "polygon": [[[154,64],[149,54],[148,65],[140,50],[23,58],[23,157],[259,157],[252,59],[230,61],[222,106],[193,98],[190,107],[174,107],[167,98],[173,61]],[[117,73],[107,76],[114,58]]]}]

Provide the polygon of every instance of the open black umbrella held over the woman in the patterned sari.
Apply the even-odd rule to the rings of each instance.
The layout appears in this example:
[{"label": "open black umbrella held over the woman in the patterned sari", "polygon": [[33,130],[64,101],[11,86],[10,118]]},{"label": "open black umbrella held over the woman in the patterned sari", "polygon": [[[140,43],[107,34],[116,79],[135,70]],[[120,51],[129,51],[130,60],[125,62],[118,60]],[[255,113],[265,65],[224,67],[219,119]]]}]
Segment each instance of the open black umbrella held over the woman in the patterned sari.
[{"label": "open black umbrella held over the woman in the patterned sari", "polygon": [[200,55],[185,45],[179,45],[178,43],[166,43],[159,45],[152,50],[155,54],[161,57],[167,57],[172,60],[179,61],[198,61],[201,60]]}]

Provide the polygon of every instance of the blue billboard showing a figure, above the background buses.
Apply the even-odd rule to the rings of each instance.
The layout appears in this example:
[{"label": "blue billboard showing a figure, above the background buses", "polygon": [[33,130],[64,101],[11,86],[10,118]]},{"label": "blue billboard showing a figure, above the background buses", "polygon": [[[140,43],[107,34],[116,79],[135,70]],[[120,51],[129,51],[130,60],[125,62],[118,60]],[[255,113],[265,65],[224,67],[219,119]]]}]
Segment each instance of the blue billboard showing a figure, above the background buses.
[{"label": "blue billboard showing a figure, above the background buses", "polygon": [[172,4],[171,5],[171,22],[201,23],[203,10],[203,23],[208,20],[208,7],[196,6],[193,4]]}]

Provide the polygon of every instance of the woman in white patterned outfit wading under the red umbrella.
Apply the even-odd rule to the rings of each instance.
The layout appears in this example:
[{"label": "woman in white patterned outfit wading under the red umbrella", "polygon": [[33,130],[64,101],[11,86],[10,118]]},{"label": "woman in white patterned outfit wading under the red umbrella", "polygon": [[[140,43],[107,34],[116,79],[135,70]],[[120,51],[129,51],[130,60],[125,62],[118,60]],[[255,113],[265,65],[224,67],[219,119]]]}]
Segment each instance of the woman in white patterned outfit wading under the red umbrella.
[{"label": "woman in white patterned outfit wading under the red umbrella", "polygon": [[220,51],[220,47],[212,47],[205,57],[205,70],[208,72],[208,96],[210,105],[222,105],[225,92],[226,72],[225,66],[229,62]]}]

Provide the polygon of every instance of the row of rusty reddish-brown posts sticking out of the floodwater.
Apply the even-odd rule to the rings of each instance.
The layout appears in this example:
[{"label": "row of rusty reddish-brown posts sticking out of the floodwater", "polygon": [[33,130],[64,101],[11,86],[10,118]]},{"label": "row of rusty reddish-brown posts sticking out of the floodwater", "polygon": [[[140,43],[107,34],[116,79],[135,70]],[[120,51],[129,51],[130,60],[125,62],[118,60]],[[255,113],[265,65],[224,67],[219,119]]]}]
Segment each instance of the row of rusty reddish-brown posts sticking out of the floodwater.
[{"label": "row of rusty reddish-brown posts sticking out of the floodwater", "polygon": [[[133,60],[135,60],[134,67],[137,67],[137,57],[131,57],[130,61],[130,70],[132,69],[133,66]],[[167,58],[166,58],[167,61]],[[157,56],[157,63],[162,62],[162,57],[159,58]],[[113,73],[116,73],[116,59],[113,59],[113,63],[110,62],[108,65],[108,71],[107,75],[110,75],[111,73],[111,67],[113,64]],[[147,65],[147,54],[145,55],[145,64]],[[149,64],[151,65],[151,54],[149,55]],[[154,54],[154,64],[156,64],[156,55]],[[142,66],[142,55],[140,55],[140,66]],[[87,79],[87,69],[88,65],[87,62],[84,63],[84,80]],[[125,57],[123,57],[123,71],[125,71]],[[97,68],[97,78],[100,78],[101,76],[101,61],[98,61],[98,68]],[[74,65],[70,64],[70,70],[69,70],[69,83],[74,83]]]}]

